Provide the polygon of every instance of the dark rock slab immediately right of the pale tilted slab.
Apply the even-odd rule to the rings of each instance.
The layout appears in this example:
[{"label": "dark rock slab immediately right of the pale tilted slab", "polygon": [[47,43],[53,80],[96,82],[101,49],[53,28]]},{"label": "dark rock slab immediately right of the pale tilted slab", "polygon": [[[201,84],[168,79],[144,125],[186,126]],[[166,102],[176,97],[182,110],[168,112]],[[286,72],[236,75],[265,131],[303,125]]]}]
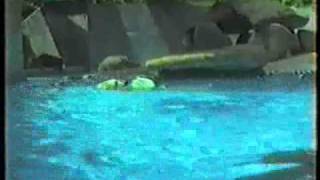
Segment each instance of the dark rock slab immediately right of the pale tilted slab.
[{"label": "dark rock slab immediately right of the pale tilted slab", "polygon": [[183,44],[187,31],[199,23],[209,22],[205,8],[168,1],[152,3],[148,6],[171,54],[188,52]]}]

